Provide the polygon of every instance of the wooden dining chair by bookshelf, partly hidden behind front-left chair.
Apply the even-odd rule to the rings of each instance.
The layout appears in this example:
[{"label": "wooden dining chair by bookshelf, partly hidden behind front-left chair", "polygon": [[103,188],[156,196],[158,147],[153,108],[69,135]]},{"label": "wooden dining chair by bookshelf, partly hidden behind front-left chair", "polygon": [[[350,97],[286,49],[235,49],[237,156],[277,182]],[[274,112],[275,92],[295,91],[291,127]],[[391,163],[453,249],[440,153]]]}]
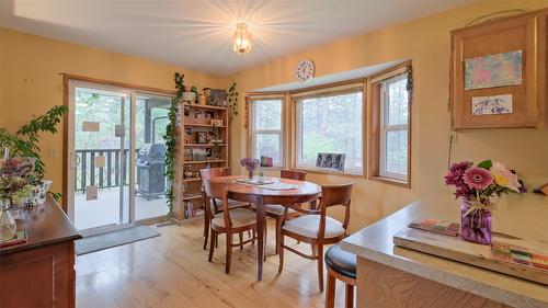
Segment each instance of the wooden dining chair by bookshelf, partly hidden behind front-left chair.
[{"label": "wooden dining chair by bookshelf, partly hidden behind front-left chair", "polygon": [[[202,199],[204,202],[204,250],[207,248],[207,238],[209,236],[209,221],[215,215],[222,212],[222,199],[213,198],[206,194],[204,182],[218,176],[228,176],[230,171],[228,168],[209,168],[199,170],[199,176],[202,178]],[[247,207],[248,203],[238,202],[233,199],[228,201],[228,206],[230,208]],[[209,208],[210,210],[207,210]]]}]

